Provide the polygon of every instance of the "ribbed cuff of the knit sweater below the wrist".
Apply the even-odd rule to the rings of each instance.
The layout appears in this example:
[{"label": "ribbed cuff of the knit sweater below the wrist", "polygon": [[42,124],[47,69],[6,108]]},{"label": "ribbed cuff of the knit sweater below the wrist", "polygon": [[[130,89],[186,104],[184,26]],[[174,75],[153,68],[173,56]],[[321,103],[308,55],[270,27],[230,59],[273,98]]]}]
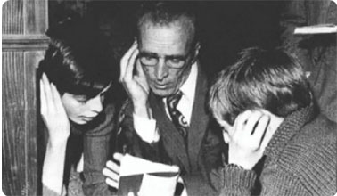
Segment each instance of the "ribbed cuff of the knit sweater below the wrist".
[{"label": "ribbed cuff of the knit sweater below the wrist", "polygon": [[252,170],[226,165],[223,169],[224,189],[229,192],[251,192],[254,187],[256,174]]}]

